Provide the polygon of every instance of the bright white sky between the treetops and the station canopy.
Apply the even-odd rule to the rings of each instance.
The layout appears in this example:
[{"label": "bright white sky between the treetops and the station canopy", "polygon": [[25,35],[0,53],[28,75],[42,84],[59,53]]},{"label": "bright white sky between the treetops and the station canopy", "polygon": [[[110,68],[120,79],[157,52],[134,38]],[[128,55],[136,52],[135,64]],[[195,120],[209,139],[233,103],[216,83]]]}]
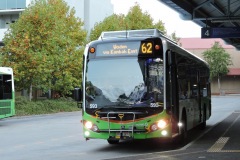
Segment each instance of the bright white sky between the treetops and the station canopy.
[{"label": "bright white sky between the treetops and the station canopy", "polygon": [[127,14],[137,2],[143,12],[148,12],[154,22],[161,20],[170,35],[176,32],[180,38],[201,37],[201,27],[192,21],[182,20],[180,14],[158,0],[111,0],[114,13]]}]

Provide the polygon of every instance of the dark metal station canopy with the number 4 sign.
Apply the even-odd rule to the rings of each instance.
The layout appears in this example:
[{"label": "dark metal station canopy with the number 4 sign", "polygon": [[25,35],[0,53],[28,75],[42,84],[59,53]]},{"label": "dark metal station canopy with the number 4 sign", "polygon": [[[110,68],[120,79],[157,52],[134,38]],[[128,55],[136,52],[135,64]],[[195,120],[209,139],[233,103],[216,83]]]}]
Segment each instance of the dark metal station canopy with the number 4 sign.
[{"label": "dark metal station canopy with the number 4 sign", "polygon": [[240,50],[239,0],[159,0],[202,27],[202,38],[222,38]]}]

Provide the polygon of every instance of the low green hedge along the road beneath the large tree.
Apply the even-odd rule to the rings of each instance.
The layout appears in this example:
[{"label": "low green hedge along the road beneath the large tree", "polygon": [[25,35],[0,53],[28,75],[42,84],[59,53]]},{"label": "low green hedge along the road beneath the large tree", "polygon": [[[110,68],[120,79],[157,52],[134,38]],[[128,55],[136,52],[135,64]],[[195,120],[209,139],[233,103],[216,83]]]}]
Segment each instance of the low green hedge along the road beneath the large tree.
[{"label": "low green hedge along the road beneath the large tree", "polygon": [[80,111],[76,101],[70,98],[29,101],[26,97],[17,96],[15,102],[16,116]]}]

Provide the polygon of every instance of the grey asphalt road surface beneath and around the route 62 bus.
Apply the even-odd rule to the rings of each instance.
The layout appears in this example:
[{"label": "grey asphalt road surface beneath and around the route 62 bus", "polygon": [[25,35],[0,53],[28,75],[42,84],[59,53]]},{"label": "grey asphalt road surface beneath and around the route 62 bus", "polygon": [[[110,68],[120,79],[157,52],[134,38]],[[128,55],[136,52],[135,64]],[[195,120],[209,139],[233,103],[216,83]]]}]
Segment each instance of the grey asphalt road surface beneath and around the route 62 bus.
[{"label": "grey asphalt road surface beneath and around the route 62 bus", "polygon": [[0,120],[0,160],[239,159],[240,96],[212,98],[204,131],[191,131],[185,146],[158,141],[109,145],[85,141],[81,112]]}]

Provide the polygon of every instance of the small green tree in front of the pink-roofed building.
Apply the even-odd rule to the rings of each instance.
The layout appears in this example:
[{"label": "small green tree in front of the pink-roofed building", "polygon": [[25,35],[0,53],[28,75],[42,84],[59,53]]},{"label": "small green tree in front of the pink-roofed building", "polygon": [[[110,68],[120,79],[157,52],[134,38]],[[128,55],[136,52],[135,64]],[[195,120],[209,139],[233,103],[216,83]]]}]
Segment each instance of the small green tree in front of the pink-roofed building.
[{"label": "small green tree in front of the pink-roofed building", "polygon": [[210,77],[218,78],[218,89],[221,90],[220,78],[228,73],[228,66],[232,64],[230,55],[215,42],[210,50],[203,52],[204,59],[210,66]]}]

